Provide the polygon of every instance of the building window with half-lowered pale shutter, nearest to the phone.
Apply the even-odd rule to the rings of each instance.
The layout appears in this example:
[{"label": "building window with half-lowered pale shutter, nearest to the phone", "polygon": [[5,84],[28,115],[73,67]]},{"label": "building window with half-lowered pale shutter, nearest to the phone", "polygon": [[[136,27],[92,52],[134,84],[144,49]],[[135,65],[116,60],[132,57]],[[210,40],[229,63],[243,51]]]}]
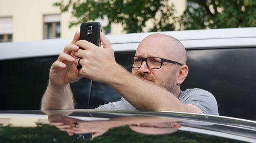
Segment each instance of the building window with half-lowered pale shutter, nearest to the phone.
[{"label": "building window with half-lowered pale shutter, nearest to the phone", "polygon": [[44,16],[44,39],[60,38],[60,15]]}]

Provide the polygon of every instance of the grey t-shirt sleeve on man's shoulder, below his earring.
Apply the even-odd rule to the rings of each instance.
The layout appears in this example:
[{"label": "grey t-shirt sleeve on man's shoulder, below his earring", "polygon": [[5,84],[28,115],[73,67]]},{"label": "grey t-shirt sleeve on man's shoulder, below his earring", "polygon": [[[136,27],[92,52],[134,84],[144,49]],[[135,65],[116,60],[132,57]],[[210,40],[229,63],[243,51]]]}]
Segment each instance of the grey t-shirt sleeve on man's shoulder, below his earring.
[{"label": "grey t-shirt sleeve on man's shoulder, below his earring", "polygon": [[193,89],[185,93],[180,99],[184,104],[198,106],[205,114],[219,115],[217,101],[210,92],[202,89]]}]

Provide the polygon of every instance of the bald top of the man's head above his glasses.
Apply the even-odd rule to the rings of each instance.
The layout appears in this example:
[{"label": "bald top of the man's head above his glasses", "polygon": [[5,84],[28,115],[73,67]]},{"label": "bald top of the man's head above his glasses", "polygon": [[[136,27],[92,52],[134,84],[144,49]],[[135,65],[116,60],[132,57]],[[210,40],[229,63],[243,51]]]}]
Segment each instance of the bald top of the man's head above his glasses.
[{"label": "bald top of the man's head above his glasses", "polygon": [[[138,55],[145,54],[148,55]],[[159,56],[186,65],[186,50],[179,40],[164,34],[152,34],[144,38],[136,50],[137,56]]]}]

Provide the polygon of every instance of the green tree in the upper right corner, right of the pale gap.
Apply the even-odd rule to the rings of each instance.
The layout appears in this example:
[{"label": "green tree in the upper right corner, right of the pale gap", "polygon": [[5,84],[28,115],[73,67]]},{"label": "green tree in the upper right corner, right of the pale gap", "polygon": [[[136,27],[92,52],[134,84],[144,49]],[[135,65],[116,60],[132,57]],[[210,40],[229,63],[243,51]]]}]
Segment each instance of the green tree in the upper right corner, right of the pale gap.
[{"label": "green tree in the upper right corner, right of the pale gap", "polygon": [[186,30],[256,26],[255,0],[188,0],[180,18]]}]

